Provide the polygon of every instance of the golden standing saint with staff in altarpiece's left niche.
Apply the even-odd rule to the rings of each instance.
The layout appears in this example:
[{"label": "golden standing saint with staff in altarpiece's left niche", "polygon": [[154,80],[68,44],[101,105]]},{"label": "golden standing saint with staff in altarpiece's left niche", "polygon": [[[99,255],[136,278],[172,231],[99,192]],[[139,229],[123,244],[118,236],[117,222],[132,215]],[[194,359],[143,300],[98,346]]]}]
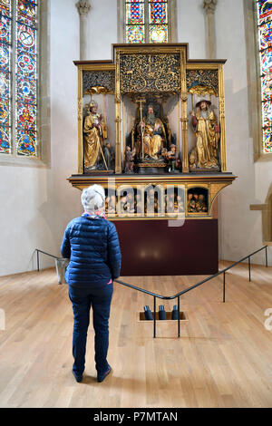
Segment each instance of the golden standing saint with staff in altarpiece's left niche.
[{"label": "golden standing saint with staff in altarpiece's left niche", "polygon": [[102,143],[107,138],[106,125],[102,114],[97,112],[97,103],[91,101],[89,108],[90,113],[85,117],[83,125],[84,169],[96,169],[101,157],[108,169],[102,152]]}]

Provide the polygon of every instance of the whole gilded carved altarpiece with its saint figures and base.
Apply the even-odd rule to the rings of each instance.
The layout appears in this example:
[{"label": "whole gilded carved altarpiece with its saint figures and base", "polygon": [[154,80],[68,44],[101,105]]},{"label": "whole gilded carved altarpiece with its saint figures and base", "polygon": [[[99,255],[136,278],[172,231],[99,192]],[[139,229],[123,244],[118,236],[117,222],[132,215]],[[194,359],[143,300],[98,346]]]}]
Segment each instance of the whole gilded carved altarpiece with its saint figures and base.
[{"label": "whole gilded carved altarpiece with its saint figures and base", "polygon": [[76,61],[78,172],[101,184],[113,220],[212,218],[227,170],[223,66],[188,44],[113,44],[112,61]]}]

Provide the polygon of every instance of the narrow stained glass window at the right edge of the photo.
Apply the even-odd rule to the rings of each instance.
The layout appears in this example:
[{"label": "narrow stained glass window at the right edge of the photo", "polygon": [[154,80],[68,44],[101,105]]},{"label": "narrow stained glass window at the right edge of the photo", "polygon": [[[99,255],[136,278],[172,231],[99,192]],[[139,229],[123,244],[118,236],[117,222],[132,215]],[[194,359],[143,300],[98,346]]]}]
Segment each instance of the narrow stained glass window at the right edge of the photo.
[{"label": "narrow stained glass window at the right edge of the photo", "polygon": [[272,1],[257,1],[263,151],[272,153]]}]

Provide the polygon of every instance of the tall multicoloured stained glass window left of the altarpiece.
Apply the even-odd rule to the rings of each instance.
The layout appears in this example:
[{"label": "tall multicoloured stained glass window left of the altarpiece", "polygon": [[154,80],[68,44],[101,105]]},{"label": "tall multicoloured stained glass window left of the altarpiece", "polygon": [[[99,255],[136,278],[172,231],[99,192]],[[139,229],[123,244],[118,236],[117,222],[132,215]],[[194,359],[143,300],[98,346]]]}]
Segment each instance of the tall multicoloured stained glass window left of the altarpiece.
[{"label": "tall multicoloured stained glass window left of the altarpiece", "polygon": [[0,153],[37,157],[37,4],[0,0]]}]

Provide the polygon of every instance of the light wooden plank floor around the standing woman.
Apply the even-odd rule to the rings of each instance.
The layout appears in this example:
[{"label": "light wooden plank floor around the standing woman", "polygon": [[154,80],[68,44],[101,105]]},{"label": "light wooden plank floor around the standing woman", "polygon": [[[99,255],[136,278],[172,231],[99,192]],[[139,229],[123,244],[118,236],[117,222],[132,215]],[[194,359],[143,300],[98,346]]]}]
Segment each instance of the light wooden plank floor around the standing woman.
[{"label": "light wooden plank floor around the standing woman", "polygon": [[[222,262],[220,267],[228,265]],[[172,295],[201,276],[125,278]],[[67,286],[55,271],[0,278],[1,407],[272,407],[272,331],[264,312],[272,308],[272,268],[246,265],[184,295],[189,322],[177,338],[176,324],[139,324],[137,312],[152,298],[115,284],[109,362],[113,373],[95,381],[93,332],[85,378],[71,373],[73,312]],[[172,303],[164,304],[171,309]]]}]

